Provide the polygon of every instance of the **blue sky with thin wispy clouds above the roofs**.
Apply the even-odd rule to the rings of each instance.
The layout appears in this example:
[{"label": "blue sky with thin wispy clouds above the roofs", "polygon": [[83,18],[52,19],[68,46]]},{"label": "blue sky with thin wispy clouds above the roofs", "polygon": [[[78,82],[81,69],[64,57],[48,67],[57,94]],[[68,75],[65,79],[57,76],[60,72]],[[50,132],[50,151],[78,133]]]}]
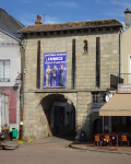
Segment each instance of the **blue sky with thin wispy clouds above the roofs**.
[{"label": "blue sky with thin wispy clouds above the roofs", "polygon": [[131,0],[1,0],[0,8],[26,25],[33,25],[36,15],[41,22],[64,23],[117,19],[124,22],[127,8]]}]

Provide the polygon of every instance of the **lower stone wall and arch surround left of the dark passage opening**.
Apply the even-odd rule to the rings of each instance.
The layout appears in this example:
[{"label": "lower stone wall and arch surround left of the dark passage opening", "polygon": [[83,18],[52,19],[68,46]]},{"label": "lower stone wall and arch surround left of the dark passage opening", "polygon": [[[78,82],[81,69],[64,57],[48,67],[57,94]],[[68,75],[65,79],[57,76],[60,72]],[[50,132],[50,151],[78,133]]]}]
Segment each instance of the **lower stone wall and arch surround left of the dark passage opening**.
[{"label": "lower stone wall and arch surround left of the dark passage opening", "polygon": [[[76,93],[29,93],[24,107],[24,139],[43,139],[51,136],[50,107],[58,98],[64,96],[76,109]],[[29,108],[28,108],[29,107]]]}]

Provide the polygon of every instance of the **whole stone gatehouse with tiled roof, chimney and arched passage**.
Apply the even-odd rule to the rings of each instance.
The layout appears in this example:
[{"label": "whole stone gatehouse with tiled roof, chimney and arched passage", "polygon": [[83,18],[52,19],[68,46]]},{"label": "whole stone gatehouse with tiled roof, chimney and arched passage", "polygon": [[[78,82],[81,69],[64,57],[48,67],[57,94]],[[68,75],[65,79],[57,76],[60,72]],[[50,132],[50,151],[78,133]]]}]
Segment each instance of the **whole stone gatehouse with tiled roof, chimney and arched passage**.
[{"label": "whole stone gatehouse with tiled roof, chimney and arched passage", "polygon": [[[25,47],[24,139],[72,131],[79,137],[82,130],[92,139],[110,74],[119,73],[120,28],[117,20],[41,24],[37,16],[35,25],[19,31]],[[56,58],[48,62],[46,57],[59,54],[59,59],[66,56],[58,62],[67,67],[64,85],[48,73]]]}]

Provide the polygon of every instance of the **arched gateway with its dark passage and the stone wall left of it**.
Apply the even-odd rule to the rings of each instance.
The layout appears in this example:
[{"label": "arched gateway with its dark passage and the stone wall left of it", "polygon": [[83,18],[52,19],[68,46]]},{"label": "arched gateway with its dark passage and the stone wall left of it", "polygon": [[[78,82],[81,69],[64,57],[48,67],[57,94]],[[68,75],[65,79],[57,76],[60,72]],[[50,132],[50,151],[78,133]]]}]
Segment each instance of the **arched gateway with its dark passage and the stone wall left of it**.
[{"label": "arched gateway with its dark passage and the stone wall left of it", "polygon": [[35,93],[32,98],[28,119],[28,107],[24,107],[24,139],[74,132],[75,93]]}]

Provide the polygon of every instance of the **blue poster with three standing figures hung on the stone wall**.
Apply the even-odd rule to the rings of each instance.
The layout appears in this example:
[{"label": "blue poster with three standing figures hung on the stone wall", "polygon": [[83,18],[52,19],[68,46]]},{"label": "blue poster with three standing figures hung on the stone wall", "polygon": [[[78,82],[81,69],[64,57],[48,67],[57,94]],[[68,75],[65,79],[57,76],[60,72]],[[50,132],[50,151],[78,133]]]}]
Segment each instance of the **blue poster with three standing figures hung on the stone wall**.
[{"label": "blue poster with three standing figures hung on the stone wall", "polygon": [[67,52],[44,54],[44,87],[67,86]]}]

